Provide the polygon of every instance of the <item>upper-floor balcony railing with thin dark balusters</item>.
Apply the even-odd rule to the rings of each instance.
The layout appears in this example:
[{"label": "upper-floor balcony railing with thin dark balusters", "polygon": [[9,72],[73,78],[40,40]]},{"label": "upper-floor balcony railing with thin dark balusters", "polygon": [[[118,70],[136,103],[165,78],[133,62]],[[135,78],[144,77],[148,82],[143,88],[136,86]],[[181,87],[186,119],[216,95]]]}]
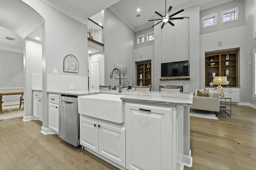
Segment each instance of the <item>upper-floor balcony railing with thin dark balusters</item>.
[{"label": "upper-floor balcony railing with thin dark balusters", "polygon": [[102,38],[103,27],[101,25],[99,25],[95,21],[88,18],[87,30],[88,30],[88,41],[104,46],[103,38]]}]

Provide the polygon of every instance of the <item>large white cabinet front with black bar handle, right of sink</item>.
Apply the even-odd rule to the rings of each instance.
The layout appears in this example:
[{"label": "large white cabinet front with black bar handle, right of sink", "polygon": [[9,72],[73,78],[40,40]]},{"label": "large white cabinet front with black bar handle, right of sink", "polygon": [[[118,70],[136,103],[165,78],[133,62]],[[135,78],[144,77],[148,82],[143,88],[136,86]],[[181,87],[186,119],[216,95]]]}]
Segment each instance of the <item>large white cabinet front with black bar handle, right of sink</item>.
[{"label": "large white cabinet front with black bar handle, right of sink", "polygon": [[[170,170],[172,164],[172,108],[126,104],[126,168]],[[174,115],[174,114],[173,114]],[[175,127],[174,127],[175,128]]]}]

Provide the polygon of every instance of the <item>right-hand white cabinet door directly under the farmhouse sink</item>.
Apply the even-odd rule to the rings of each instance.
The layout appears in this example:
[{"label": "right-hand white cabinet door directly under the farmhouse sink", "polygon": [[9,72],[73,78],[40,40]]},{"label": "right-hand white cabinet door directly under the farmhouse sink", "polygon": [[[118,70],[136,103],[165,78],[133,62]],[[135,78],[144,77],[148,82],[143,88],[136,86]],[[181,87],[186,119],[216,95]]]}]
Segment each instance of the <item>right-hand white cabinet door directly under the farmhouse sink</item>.
[{"label": "right-hand white cabinet door directly under the farmhouse sink", "polygon": [[99,125],[99,154],[125,167],[125,129]]}]

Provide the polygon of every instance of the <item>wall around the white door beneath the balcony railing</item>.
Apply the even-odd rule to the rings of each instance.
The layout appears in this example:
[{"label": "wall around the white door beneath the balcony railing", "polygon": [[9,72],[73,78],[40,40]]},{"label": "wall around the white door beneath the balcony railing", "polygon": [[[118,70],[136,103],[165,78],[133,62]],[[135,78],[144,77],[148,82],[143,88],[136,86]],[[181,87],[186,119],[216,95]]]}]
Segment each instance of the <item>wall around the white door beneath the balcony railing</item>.
[{"label": "wall around the white door beneath the balcony railing", "polygon": [[88,55],[88,67],[89,67],[89,88],[91,88],[91,63],[93,61],[100,61],[100,85],[104,85],[104,79],[105,79],[105,66],[104,66],[104,52],[95,53],[92,55]]}]

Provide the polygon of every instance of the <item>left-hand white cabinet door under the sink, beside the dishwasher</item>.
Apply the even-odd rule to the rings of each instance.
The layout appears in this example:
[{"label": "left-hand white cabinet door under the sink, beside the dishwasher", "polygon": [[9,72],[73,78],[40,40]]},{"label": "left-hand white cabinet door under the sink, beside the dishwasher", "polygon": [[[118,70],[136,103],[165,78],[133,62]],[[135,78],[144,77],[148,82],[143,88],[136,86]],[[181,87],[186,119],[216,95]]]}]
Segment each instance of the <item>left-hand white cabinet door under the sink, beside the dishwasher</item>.
[{"label": "left-hand white cabinet door under the sink, beside the dishwasher", "polygon": [[80,116],[80,145],[96,152],[99,150],[98,122]]}]

